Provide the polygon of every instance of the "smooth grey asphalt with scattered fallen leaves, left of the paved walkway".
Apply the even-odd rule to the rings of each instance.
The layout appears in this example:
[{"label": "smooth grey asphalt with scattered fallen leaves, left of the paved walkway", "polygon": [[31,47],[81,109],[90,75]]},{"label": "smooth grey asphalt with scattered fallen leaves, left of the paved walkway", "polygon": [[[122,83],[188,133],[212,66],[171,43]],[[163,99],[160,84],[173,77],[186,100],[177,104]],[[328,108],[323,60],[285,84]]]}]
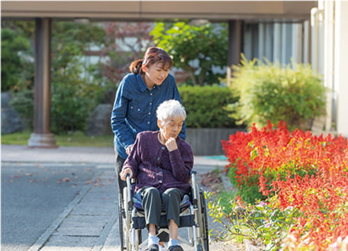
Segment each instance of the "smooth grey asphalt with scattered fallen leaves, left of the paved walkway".
[{"label": "smooth grey asphalt with scattered fallen leaves, left of the paved walkway", "polygon": [[97,171],[96,164],[1,162],[1,250],[28,250]]}]

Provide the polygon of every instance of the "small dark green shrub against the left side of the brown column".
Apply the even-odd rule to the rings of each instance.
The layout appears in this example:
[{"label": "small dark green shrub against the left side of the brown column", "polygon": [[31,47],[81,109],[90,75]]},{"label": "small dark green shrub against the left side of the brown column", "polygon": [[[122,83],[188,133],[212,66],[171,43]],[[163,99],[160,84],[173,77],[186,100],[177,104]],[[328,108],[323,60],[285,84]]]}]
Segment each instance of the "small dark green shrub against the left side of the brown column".
[{"label": "small dark green shrub against the left side of the brown column", "polygon": [[26,121],[27,128],[33,128],[33,89],[24,89],[13,93],[13,99],[9,104]]}]

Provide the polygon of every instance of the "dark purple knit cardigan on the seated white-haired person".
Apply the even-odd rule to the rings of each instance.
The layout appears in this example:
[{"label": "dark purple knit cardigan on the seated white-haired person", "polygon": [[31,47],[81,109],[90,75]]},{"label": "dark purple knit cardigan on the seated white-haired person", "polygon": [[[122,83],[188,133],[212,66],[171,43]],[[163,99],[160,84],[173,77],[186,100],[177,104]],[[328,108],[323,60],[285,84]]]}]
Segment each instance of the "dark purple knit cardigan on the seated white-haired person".
[{"label": "dark purple knit cardigan on the seated white-haired person", "polygon": [[139,132],[133,149],[125,160],[123,169],[130,168],[137,178],[135,191],[151,186],[164,192],[168,188],[180,188],[189,192],[190,172],[193,167],[191,146],[177,137],[177,149],[168,151],[158,139],[159,131]]}]

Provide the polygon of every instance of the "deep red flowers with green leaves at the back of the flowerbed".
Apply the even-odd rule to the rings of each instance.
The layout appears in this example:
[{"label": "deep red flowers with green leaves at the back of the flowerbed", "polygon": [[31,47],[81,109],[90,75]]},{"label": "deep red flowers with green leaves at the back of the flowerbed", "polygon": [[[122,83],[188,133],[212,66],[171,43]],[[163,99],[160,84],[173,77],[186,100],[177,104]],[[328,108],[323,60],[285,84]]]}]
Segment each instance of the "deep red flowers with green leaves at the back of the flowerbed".
[{"label": "deep red flowers with green leaves at the back of the flowerbed", "polygon": [[271,123],[260,130],[252,126],[250,132],[237,132],[222,144],[230,162],[226,172],[242,199],[251,203],[269,196],[271,182],[278,177],[317,174],[319,169],[342,165],[347,158],[344,137],[315,136],[303,130],[289,132],[284,122],[278,128]]}]

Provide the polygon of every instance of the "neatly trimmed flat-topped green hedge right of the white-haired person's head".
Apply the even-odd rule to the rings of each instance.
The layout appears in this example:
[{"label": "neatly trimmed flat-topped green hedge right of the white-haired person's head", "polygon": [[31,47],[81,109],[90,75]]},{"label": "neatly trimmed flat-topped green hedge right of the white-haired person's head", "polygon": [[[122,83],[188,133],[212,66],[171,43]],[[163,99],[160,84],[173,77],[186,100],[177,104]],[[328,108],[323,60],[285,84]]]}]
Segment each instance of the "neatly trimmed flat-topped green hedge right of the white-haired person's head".
[{"label": "neatly trimmed flat-topped green hedge right of the white-haired person's head", "polygon": [[187,128],[229,128],[234,120],[225,107],[233,102],[230,89],[220,86],[180,86],[182,105],[187,111]]}]

